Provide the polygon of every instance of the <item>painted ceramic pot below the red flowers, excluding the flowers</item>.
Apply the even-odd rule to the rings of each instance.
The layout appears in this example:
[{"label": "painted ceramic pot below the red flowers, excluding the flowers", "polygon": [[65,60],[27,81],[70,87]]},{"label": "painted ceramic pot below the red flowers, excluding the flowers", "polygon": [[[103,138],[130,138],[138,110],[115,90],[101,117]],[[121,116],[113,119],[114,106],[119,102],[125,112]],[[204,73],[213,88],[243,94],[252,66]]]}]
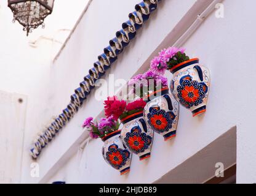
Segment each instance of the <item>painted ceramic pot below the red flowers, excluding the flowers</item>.
[{"label": "painted ceramic pot below the red flowers, excluding the flowers", "polygon": [[143,111],[127,116],[121,120],[121,138],[132,153],[138,154],[140,160],[150,157],[154,132],[146,125]]}]

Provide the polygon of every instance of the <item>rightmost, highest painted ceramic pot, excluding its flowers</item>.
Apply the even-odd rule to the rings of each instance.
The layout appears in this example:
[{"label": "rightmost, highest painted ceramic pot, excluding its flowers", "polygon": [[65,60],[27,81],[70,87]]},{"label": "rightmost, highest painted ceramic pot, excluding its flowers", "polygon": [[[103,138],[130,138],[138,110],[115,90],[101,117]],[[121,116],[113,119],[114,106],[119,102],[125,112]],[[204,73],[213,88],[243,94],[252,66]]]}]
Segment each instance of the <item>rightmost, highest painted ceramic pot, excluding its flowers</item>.
[{"label": "rightmost, highest painted ceramic pot, excluding its flowers", "polygon": [[209,69],[199,66],[199,59],[194,58],[172,67],[174,74],[170,81],[170,91],[175,99],[188,108],[193,116],[206,111],[210,88]]}]

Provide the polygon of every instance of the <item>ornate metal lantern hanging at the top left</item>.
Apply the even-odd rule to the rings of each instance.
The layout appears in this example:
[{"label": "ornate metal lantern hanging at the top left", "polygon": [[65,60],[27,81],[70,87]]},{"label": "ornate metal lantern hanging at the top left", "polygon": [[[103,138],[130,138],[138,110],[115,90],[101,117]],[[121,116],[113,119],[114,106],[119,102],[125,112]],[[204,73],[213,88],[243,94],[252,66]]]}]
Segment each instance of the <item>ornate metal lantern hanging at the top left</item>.
[{"label": "ornate metal lantern hanging at the top left", "polygon": [[14,20],[17,20],[26,31],[26,36],[32,29],[42,25],[44,28],[44,18],[52,13],[54,0],[8,0],[8,7],[14,13]]}]

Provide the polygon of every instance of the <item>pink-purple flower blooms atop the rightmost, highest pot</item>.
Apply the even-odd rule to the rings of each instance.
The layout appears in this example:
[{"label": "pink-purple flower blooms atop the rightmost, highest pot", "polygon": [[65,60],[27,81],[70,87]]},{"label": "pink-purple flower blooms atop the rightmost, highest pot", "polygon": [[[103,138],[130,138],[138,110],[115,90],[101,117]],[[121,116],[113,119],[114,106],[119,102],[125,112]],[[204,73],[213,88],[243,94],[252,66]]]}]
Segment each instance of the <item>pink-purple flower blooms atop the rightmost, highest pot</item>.
[{"label": "pink-purple flower blooms atop the rightmost, highest pot", "polygon": [[152,59],[150,63],[150,70],[156,74],[164,75],[167,69],[167,62],[174,58],[178,51],[184,53],[185,48],[169,47],[167,49],[161,50],[158,53],[158,56],[155,56]]}]

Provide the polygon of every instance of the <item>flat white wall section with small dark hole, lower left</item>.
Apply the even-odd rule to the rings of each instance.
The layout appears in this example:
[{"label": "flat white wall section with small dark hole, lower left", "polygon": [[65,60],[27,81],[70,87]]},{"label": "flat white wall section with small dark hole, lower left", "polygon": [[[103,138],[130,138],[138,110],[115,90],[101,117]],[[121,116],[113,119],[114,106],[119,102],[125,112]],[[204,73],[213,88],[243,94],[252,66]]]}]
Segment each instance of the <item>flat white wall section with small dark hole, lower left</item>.
[{"label": "flat white wall section with small dark hole, lower left", "polygon": [[0,184],[20,183],[27,97],[0,91]]}]

